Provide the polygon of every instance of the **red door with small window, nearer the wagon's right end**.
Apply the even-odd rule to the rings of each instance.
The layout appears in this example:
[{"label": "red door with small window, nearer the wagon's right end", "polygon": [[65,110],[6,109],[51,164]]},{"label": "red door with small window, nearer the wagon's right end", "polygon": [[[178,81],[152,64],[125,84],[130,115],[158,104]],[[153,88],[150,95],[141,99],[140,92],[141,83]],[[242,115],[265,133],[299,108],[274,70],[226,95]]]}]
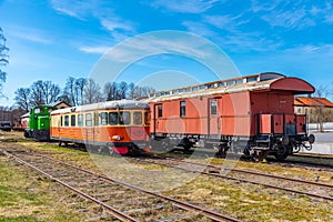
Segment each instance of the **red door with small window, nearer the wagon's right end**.
[{"label": "red door with small window, nearer the wagon's right end", "polygon": [[218,135],[221,131],[221,119],[219,115],[219,100],[210,98],[208,100],[208,134]]}]

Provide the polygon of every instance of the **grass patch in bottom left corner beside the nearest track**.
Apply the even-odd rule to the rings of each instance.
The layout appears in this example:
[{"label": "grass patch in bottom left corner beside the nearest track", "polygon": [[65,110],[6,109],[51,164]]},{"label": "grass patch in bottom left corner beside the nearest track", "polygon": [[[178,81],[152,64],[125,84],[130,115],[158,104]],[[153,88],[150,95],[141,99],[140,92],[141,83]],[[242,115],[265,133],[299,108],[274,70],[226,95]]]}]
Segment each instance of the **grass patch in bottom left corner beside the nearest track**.
[{"label": "grass patch in bottom left corner beside the nearest track", "polygon": [[87,220],[65,206],[61,196],[68,193],[60,185],[22,170],[0,157],[0,222]]}]

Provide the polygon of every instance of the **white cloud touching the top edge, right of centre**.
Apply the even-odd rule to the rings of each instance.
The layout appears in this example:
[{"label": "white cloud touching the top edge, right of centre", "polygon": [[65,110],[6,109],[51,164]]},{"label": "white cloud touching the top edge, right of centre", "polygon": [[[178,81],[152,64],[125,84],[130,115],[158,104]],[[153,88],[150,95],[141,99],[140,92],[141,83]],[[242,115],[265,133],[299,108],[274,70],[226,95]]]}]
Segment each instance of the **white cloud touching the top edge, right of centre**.
[{"label": "white cloud touching the top edge, right of centre", "polygon": [[215,2],[218,0],[155,0],[151,6],[175,12],[202,13],[212,8]]}]

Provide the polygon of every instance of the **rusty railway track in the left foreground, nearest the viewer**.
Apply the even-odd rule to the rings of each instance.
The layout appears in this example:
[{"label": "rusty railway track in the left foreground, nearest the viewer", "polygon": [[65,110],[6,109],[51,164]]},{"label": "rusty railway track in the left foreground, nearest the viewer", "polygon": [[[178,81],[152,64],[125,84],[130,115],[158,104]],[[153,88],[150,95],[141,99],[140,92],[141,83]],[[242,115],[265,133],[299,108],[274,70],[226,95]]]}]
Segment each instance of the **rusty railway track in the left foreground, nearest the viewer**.
[{"label": "rusty railway track in the left foreground, nearest the viewer", "polygon": [[0,151],[82,198],[102,206],[122,221],[240,221],[205,208],[144,190],[102,174],[52,159],[36,151]]}]

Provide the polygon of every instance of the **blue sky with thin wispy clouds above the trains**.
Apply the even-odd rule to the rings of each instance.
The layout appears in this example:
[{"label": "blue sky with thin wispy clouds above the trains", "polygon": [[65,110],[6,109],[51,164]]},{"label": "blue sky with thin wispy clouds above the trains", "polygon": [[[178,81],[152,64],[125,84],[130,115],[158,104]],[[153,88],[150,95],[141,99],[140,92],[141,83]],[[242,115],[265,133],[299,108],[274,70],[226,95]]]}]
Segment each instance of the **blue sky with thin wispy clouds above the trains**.
[{"label": "blue sky with thin wispy clouds above the trains", "polygon": [[[0,100],[2,105],[13,104],[18,88],[40,79],[63,87],[69,75],[90,77],[110,48],[161,30],[205,38],[242,75],[275,71],[332,88],[332,1],[0,0],[0,14],[10,48],[3,91],[9,99]],[[151,81],[155,88],[168,81],[167,88],[172,88],[216,79],[204,65],[180,54],[147,57],[123,73],[117,80],[135,83],[159,73],[161,78]],[[180,75],[191,75],[193,82]]]}]

